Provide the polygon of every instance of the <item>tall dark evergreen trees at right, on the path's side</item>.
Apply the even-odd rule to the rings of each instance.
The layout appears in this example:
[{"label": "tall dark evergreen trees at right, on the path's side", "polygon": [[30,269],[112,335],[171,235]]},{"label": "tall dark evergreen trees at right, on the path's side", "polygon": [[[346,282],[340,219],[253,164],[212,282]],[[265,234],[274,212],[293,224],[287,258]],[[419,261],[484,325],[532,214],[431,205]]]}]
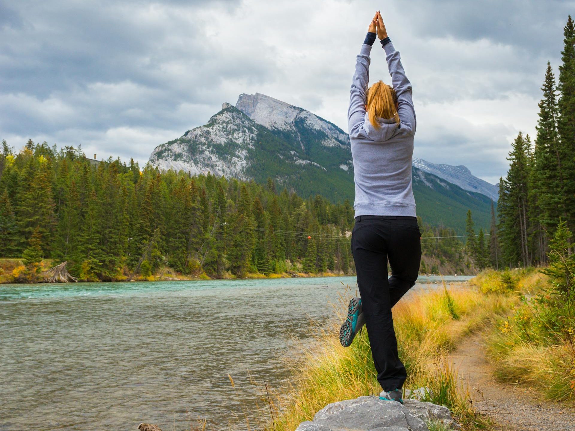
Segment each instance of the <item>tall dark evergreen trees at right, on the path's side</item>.
[{"label": "tall dark evergreen trees at right, on the path's side", "polygon": [[[467,214],[467,247],[478,268],[545,265],[558,226],[574,231],[575,25],[571,16],[563,35],[558,83],[547,62],[537,136],[532,142],[520,132],[513,140],[507,176],[499,181],[499,220],[492,211],[488,240],[481,230],[476,239],[471,213]],[[568,250],[573,252],[572,242]]]}]

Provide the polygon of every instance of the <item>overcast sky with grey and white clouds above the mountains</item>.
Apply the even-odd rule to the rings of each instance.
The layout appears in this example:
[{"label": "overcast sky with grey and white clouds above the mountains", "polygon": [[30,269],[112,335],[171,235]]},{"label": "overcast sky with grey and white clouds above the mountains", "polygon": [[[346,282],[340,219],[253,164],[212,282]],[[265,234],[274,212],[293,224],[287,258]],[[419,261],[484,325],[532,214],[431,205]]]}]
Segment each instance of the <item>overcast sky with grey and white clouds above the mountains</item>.
[{"label": "overcast sky with grey and white clouds above the mountains", "polygon": [[[377,9],[413,84],[414,155],[497,182],[517,132],[535,134],[574,1],[0,0],[0,139],[145,163],[256,91],[347,131]],[[389,83],[377,42],[371,56]]]}]

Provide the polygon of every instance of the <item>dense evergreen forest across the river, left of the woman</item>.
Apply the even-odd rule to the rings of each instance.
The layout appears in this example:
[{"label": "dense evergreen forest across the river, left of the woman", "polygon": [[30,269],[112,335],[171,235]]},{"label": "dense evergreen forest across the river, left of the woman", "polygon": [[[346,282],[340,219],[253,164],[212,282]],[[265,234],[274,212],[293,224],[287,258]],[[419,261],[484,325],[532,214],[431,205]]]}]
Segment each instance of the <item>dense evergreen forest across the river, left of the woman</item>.
[{"label": "dense evergreen forest across the river, left of the woman", "polygon": [[82,280],[145,276],[164,265],[210,277],[292,267],[351,273],[348,201],[302,199],[276,186],[271,178],[259,185],[140,171],[133,159],[94,163],[81,148],[32,140],[14,154],[3,142],[0,257],[22,257],[26,266],[67,261]]}]

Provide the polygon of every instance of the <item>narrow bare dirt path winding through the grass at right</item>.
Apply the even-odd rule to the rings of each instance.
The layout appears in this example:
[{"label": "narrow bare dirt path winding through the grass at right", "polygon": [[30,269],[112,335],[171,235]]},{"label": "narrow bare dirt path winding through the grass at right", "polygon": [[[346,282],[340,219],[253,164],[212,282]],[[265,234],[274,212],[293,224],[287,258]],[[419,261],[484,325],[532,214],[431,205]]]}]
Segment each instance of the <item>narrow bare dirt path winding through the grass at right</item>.
[{"label": "narrow bare dirt path winding through the grass at right", "polygon": [[539,401],[536,392],[494,379],[485,359],[481,334],[470,335],[451,355],[455,369],[469,384],[481,413],[490,414],[497,430],[572,431],[575,409],[566,403]]}]

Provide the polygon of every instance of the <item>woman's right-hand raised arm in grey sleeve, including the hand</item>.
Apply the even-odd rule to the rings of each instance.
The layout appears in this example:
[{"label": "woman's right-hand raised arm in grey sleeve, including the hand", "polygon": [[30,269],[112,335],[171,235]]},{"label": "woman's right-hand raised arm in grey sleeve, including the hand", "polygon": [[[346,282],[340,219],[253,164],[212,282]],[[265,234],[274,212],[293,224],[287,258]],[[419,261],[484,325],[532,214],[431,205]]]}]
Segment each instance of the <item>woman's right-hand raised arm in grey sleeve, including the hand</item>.
[{"label": "woman's right-hand raised arm in grey sleeve, including the hand", "polygon": [[399,51],[393,47],[389,40],[387,30],[381,13],[377,12],[377,36],[385,49],[388,62],[389,74],[392,75],[392,86],[397,96],[397,114],[401,121],[401,127],[406,128],[411,134],[415,134],[416,120],[413,108],[412,86],[405,76],[405,70],[401,64]]}]

